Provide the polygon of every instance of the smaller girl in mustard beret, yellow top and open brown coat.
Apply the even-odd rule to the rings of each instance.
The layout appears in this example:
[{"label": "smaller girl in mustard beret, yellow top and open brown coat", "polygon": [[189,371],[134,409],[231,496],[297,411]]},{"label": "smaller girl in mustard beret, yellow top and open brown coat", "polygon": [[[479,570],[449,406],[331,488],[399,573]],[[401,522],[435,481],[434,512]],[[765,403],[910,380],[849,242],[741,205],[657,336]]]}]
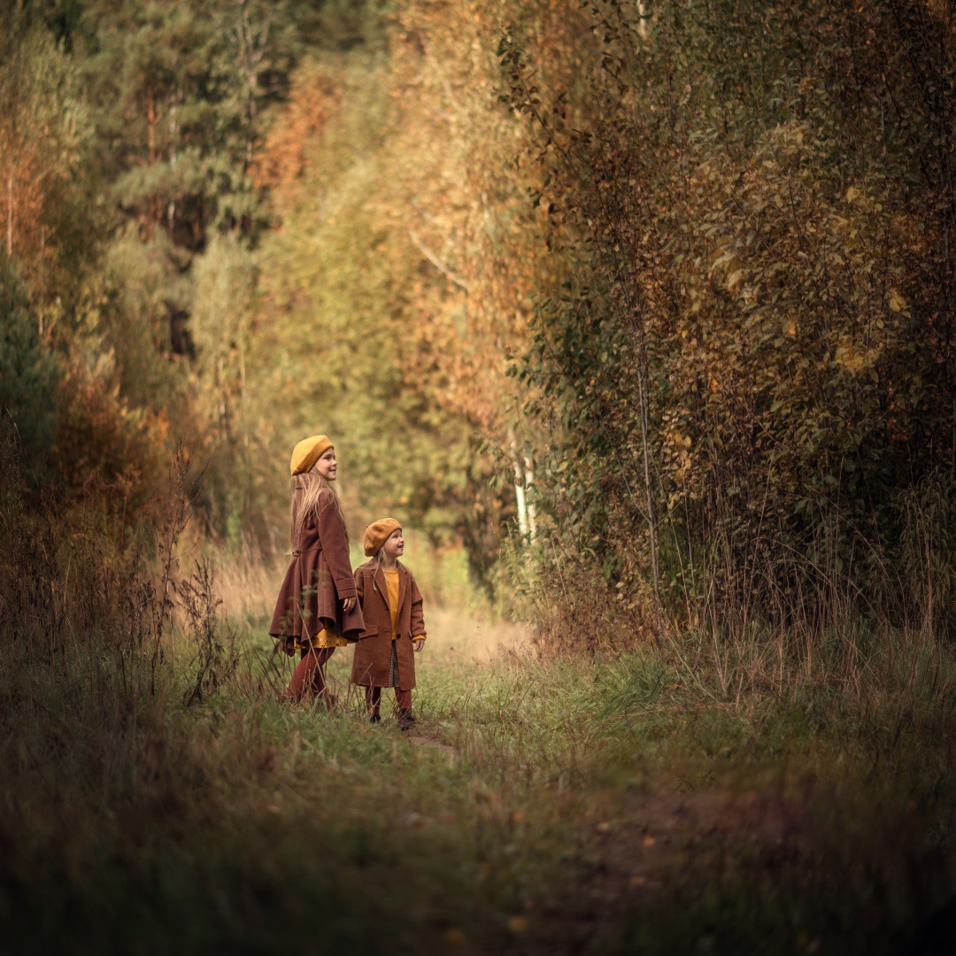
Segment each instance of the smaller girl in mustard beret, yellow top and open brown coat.
[{"label": "smaller girl in mustard beret, yellow top and open brown coat", "polygon": [[411,572],[399,564],[405,542],[395,518],[382,518],[365,529],[365,554],[372,558],[356,568],[365,630],[352,660],[352,683],[365,688],[369,720],[380,720],[382,687],[395,687],[399,727],[407,730],[415,686],[414,651],[424,647],[422,592]]}]

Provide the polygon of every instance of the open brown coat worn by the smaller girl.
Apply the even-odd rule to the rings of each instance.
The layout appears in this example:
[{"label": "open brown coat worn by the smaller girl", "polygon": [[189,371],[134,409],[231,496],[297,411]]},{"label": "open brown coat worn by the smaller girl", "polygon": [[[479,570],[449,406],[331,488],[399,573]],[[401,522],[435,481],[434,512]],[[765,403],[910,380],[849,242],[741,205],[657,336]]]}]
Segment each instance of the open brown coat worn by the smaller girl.
[{"label": "open brown coat worn by the smaller girl", "polygon": [[[399,569],[399,615],[396,621],[395,651],[399,659],[399,685],[415,686],[415,649],[412,638],[424,638],[422,592],[412,573]],[[385,573],[376,561],[356,568],[356,588],[365,615],[365,630],[359,635],[352,659],[352,683],[363,687],[387,687],[388,664],[392,656],[392,615],[388,607]]]}]

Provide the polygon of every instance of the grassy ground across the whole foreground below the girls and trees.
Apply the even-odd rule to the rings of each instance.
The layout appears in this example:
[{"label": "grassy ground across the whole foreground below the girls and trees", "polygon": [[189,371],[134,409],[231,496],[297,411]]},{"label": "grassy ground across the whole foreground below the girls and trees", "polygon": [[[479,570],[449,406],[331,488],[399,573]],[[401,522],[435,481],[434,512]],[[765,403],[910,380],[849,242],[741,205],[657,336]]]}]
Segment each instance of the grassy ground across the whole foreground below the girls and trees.
[{"label": "grassy ground across the whole foreground below the girls and trees", "polygon": [[896,696],[721,696],[692,641],[474,663],[457,623],[408,734],[280,705],[268,639],[191,707],[185,647],[151,695],[4,645],[4,949],[879,953],[956,889],[947,649]]}]

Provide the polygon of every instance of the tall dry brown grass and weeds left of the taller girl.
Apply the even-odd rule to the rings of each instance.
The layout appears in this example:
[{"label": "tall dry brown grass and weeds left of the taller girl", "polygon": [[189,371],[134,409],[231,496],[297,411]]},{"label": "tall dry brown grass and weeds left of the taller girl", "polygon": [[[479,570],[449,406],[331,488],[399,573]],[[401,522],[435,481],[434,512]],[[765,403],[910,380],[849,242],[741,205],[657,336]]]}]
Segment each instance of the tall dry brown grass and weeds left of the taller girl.
[{"label": "tall dry brown grass and weeds left of the taller girl", "polygon": [[[149,763],[149,728],[163,724],[169,694],[185,684],[186,703],[201,701],[238,665],[208,562],[181,567],[195,487],[189,454],[178,449],[165,499],[120,542],[109,486],[91,481],[67,500],[8,443],[0,445],[0,475],[4,739],[16,742],[22,769],[32,772],[64,734],[85,737],[88,749],[110,750],[103,787],[128,787]],[[52,792],[61,792],[60,776]]]}]

